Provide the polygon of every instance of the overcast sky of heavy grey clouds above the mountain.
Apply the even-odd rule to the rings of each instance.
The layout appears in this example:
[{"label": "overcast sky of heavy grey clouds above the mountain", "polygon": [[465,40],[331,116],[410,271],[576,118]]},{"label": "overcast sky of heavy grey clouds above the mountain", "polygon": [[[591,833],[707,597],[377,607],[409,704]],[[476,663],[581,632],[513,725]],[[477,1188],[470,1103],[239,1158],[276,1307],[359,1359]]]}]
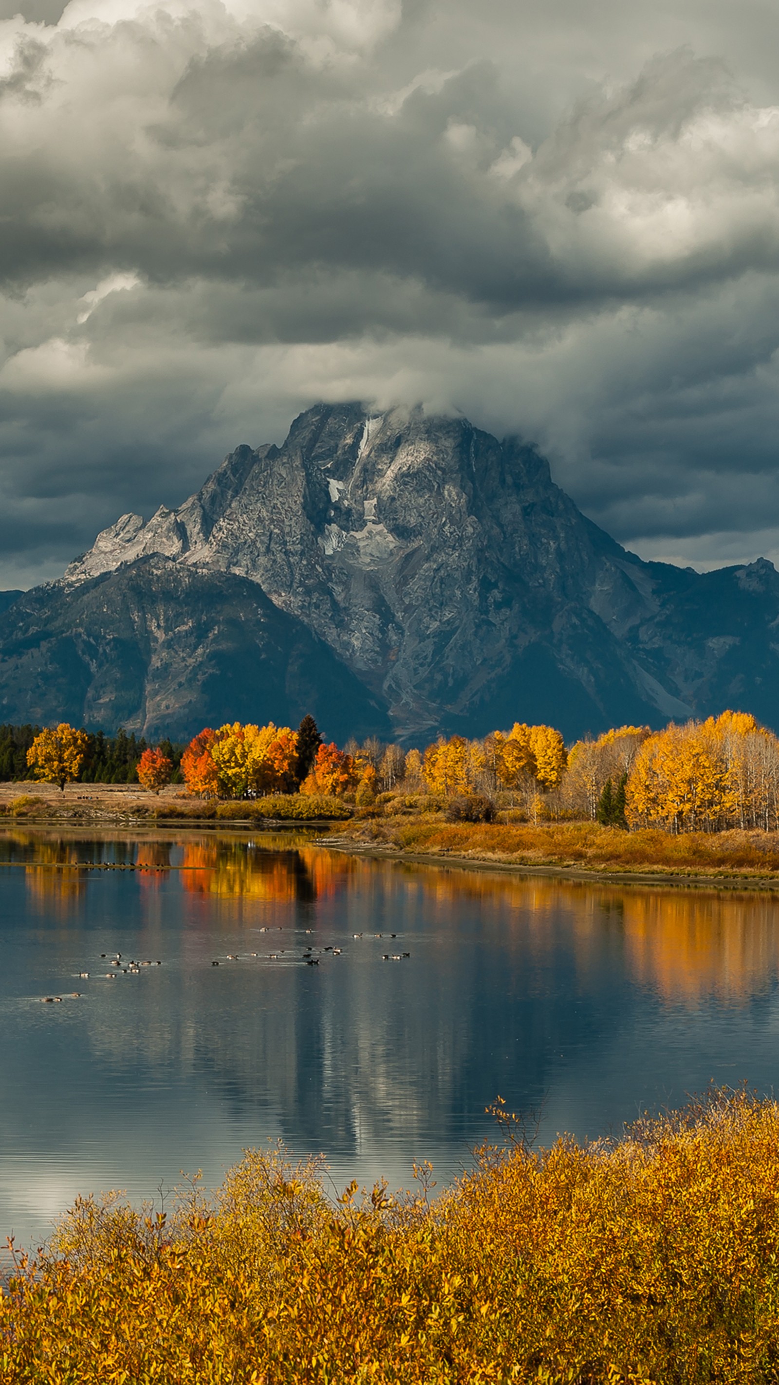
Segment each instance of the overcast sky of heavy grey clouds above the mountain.
[{"label": "overcast sky of heavy grey clouds above the mountain", "polygon": [[779,558],[779,4],[0,0],[0,586],[318,399]]}]

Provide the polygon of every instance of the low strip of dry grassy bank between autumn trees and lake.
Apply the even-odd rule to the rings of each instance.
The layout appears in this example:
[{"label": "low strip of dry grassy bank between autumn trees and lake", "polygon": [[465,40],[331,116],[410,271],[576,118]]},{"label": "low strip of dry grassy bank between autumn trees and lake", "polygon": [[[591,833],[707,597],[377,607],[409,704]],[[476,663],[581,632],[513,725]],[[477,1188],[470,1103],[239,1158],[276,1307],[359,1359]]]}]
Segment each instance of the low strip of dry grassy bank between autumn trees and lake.
[{"label": "low strip of dry grassy bank between autumn trees and lake", "polygon": [[[429,799],[425,799],[425,805]],[[180,785],[0,784],[0,823],[50,827],[306,827],[335,850],[407,861],[634,884],[779,889],[779,832],[625,832],[598,823],[447,823],[444,813],[356,809],[338,798],[194,799]]]}]

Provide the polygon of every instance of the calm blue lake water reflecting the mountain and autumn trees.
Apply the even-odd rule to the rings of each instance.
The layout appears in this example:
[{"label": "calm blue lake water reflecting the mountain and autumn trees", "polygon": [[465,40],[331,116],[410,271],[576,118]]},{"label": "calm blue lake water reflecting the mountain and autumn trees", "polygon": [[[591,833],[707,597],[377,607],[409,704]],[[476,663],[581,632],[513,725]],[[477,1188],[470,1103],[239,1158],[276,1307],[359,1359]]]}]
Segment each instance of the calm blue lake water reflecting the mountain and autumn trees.
[{"label": "calm blue lake water reflecting the mountain and autumn trees", "polygon": [[[441,1184],[493,1137],[497,1094],[541,1108],[549,1141],[710,1079],[779,1086],[768,896],[371,861],[302,834],[19,830],[0,834],[0,1238],[28,1245],[77,1192],[214,1186],[268,1140],[322,1151],[336,1186],[408,1186],[414,1159]],[[108,979],[101,953],[161,965]]]}]

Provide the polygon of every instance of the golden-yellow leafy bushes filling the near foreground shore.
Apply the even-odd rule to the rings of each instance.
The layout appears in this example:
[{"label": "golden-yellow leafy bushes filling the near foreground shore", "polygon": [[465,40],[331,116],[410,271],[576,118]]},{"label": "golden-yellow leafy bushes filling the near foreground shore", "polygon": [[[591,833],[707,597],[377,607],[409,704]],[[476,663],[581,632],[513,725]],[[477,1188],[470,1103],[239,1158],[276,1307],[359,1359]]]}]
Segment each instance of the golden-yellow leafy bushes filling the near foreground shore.
[{"label": "golden-yellow leafy bushes filling the near foreground shore", "polygon": [[79,1201],[1,1298],[1,1379],[779,1378],[773,1101],[714,1091],[618,1143],[484,1147],[434,1201],[351,1186],[331,1202],[320,1177],[249,1152],[167,1217]]}]

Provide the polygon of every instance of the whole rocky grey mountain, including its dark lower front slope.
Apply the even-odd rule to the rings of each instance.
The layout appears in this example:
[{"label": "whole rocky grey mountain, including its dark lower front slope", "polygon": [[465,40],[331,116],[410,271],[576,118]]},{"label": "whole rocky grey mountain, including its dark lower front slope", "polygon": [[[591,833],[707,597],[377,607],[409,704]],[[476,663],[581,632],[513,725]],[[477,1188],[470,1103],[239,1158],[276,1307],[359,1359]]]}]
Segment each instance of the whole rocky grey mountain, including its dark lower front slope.
[{"label": "whole rocky grey mountain, including its dark lower front slope", "polygon": [[317,404],[0,614],[0,715],[188,734],[273,705],[412,744],[732,705],[779,729],[778,626],[769,562],[643,562],[515,438]]}]

